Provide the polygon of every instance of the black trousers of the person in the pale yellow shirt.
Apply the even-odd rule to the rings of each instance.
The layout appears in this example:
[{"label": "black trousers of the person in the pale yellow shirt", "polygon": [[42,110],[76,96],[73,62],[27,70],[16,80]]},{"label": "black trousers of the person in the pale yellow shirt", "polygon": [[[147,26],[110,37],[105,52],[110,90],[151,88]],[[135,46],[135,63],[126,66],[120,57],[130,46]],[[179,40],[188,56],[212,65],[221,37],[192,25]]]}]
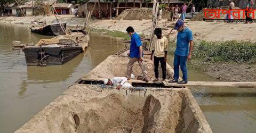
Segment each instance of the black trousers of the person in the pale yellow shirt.
[{"label": "black trousers of the person in the pale yellow shirt", "polygon": [[159,78],[159,72],[158,72],[159,61],[161,63],[163,79],[165,79],[166,78],[166,61],[164,62],[164,57],[154,56],[155,76],[156,78]]}]

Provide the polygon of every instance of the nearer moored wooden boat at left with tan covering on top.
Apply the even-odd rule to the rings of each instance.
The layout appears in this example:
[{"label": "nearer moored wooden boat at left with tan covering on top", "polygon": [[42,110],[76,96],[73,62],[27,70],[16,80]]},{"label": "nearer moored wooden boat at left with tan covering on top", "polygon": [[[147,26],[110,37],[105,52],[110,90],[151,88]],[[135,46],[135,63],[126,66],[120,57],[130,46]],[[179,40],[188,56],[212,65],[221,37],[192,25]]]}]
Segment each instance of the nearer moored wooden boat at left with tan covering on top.
[{"label": "nearer moored wooden boat at left with tan covering on top", "polygon": [[34,46],[13,42],[13,49],[22,48],[27,65],[62,65],[83,52],[73,39],[41,39]]}]

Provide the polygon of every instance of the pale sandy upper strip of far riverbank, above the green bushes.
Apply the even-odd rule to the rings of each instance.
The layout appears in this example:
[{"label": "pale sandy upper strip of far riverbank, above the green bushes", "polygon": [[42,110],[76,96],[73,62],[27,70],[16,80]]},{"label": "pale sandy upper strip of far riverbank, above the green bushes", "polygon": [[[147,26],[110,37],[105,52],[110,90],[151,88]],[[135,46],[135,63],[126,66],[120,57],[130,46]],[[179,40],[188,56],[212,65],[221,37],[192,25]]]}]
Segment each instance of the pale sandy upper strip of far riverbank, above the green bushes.
[{"label": "pale sandy upper strip of far riverbank, above the green bushes", "polygon": [[[74,15],[59,15],[60,22],[66,22],[67,26],[83,26],[84,18],[75,18]],[[29,24],[31,20],[57,23],[55,16],[7,16],[0,18],[0,22]],[[169,34],[174,22],[161,20],[158,27],[163,29],[163,34]],[[185,21],[185,25],[193,31],[195,40],[245,40],[256,42],[256,23],[224,23],[224,22],[204,22]],[[91,20],[90,27],[95,29],[106,29],[110,31],[125,32],[128,26],[134,27],[138,34],[150,35],[151,20]],[[170,38],[175,38],[177,31],[173,30]]]}]

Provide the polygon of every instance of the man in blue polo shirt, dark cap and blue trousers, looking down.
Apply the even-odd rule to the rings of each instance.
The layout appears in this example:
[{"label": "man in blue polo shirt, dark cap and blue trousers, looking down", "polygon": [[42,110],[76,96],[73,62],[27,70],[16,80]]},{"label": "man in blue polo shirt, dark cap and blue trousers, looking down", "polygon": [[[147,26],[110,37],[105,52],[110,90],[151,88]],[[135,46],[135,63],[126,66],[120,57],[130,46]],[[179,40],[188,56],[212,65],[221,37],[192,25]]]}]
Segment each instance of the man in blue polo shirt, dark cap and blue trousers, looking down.
[{"label": "man in blue polo shirt, dark cap and blue trousers, looking down", "polygon": [[[187,60],[191,59],[191,54],[193,51],[193,33],[192,31],[185,27],[183,21],[179,20],[176,22],[175,30],[178,30],[177,35],[177,44],[176,50],[174,53],[174,76],[173,80],[169,81],[170,83],[178,82],[178,84],[187,84],[188,76],[187,76]],[[182,81],[178,81],[179,79],[179,66],[182,71]]]}]

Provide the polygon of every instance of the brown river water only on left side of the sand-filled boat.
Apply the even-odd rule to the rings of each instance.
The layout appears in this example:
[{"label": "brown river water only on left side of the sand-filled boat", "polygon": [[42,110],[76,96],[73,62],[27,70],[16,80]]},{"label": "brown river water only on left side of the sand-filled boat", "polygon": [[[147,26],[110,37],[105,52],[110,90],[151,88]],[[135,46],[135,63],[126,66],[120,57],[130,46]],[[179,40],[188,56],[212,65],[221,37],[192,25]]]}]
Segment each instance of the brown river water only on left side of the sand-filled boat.
[{"label": "brown river water only on left side of the sand-filled boat", "polygon": [[108,55],[124,48],[119,39],[91,33],[85,53],[63,65],[45,67],[27,66],[24,53],[12,51],[13,40],[36,43],[41,38],[51,36],[33,34],[28,26],[0,23],[0,132],[15,131]]}]

